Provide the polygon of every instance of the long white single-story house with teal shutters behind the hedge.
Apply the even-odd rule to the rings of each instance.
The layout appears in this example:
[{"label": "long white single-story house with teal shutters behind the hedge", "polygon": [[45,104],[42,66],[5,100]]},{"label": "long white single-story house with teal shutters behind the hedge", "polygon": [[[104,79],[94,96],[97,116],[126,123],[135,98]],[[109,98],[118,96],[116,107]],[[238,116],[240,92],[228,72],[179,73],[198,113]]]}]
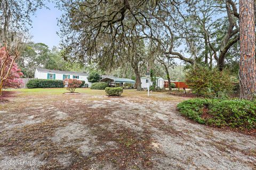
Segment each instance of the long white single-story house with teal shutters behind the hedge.
[{"label": "long white single-story house with teal shutters behind the hedge", "polygon": [[36,68],[35,78],[38,79],[56,79],[56,80],[64,80],[66,78],[76,78],[79,80],[84,80],[85,84],[88,84],[89,87],[91,83],[88,82],[89,75],[83,72],[73,72],[73,71],[60,71],[60,70],[49,70]]}]

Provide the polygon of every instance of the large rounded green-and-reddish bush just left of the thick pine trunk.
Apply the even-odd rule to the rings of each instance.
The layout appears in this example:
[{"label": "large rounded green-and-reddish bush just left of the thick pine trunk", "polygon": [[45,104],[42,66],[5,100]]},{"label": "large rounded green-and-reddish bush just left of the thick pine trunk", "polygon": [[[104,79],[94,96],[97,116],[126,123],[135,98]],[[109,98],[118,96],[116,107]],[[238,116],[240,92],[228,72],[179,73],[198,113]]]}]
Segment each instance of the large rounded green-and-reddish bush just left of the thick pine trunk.
[{"label": "large rounded green-and-reddish bush just left of the thick pine trunk", "polygon": [[235,78],[227,70],[198,66],[186,73],[186,83],[193,93],[207,98],[223,98],[234,91]]}]

